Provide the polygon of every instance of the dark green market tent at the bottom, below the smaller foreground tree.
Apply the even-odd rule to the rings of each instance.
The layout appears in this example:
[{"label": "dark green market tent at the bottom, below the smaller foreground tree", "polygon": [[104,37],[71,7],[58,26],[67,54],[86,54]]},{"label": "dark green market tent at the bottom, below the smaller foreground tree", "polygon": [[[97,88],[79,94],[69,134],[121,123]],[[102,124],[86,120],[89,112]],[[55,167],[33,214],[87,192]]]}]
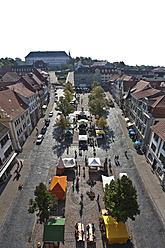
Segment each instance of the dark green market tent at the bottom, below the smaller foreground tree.
[{"label": "dark green market tent at the bottom, below the smaller foreground tree", "polygon": [[48,219],[44,225],[44,242],[64,241],[65,218]]}]

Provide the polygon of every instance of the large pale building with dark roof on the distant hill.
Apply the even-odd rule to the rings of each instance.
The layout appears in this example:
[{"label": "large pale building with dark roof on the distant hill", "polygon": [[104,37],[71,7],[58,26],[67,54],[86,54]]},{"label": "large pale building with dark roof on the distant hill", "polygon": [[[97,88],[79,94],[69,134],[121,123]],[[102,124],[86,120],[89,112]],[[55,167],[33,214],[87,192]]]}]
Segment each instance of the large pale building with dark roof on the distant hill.
[{"label": "large pale building with dark roof on the distant hill", "polygon": [[26,65],[32,65],[37,60],[42,60],[48,67],[60,66],[62,63],[66,63],[70,56],[65,51],[54,52],[30,52],[25,57]]}]

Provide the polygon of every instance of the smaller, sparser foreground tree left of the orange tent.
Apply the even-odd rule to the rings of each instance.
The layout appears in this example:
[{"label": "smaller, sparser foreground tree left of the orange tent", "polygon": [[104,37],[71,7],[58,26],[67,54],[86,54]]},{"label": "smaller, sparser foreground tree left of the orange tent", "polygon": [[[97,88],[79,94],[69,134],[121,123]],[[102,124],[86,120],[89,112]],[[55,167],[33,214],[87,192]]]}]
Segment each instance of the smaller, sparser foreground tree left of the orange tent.
[{"label": "smaller, sparser foreground tree left of the orange tent", "polygon": [[35,200],[29,200],[29,213],[38,211],[40,224],[46,222],[50,216],[50,210],[56,211],[58,206],[58,200],[55,195],[51,194],[51,191],[47,189],[44,183],[40,183],[34,190]]}]

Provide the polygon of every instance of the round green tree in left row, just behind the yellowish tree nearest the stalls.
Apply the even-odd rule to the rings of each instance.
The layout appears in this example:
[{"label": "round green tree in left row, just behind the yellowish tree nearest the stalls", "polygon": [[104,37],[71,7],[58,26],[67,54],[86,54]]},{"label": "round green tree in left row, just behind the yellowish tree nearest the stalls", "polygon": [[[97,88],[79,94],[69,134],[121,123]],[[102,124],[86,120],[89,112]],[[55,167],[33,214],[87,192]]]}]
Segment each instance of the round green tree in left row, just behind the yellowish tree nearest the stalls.
[{"label": "round green tree in left row, just behind the yellowish tree nearest the stalls", "polygon": [[74,112],[74,107],[63,96],[60,97],[56,103],[55,110],[61,112],[65,117]]}]

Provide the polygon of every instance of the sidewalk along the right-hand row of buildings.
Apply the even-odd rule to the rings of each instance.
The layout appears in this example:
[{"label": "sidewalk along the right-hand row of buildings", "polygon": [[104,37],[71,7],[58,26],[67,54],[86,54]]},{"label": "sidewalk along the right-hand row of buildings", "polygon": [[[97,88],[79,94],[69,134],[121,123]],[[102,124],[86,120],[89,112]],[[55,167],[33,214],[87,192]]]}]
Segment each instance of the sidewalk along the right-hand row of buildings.
[{"label": "sidewalk along the right-hand row of buildings", "polygon": [[[125,134],[125,137],[127,139],[129,149],[135,151],[128,135],[128,130],[126,128],[126,122],[124,120],[124,117],[119,115],[118,118],[122,126],[123,133]],[[144,185],[159,213],[159,216],[165,226],[165,193],[161,188],[159,179],[156,174],[153,174],[151,166],[146,162],[145,155],[136,154],[134,156],[134,162],[144,182]]]}]

